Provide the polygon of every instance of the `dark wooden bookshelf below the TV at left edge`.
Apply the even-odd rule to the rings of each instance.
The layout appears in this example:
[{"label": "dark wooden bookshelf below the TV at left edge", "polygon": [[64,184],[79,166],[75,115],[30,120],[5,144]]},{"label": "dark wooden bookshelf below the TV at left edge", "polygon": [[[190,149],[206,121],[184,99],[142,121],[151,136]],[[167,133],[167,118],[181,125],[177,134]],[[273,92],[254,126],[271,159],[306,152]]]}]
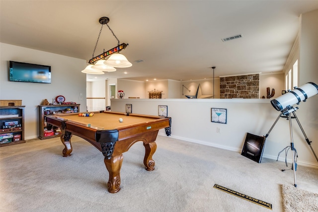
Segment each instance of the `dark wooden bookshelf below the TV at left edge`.
[{"label": "dark wooden bookshelf below the TV at left edge", "polygon": [[24,107],[0,106],[0,147],[25,143]]}]

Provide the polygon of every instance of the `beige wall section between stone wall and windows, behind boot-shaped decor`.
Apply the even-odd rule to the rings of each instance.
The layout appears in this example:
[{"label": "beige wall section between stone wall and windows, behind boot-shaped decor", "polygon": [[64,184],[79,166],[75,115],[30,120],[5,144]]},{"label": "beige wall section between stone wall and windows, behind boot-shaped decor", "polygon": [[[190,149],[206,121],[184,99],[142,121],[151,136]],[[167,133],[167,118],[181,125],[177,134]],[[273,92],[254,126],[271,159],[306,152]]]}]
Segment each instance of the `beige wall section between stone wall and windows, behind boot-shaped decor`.
[{"label": "beige wall section between stone wall and windows, behind boot-shaped decor", "polygon": [[285,77],[284,73],[279,74],[260,74],[259,75],[259,98],[267,96],[267,87],[270,88],[270,94],[272,89],[275,89],[275,95],[272,99],[275,99],[282,95],[282,91],[285,90]]}]

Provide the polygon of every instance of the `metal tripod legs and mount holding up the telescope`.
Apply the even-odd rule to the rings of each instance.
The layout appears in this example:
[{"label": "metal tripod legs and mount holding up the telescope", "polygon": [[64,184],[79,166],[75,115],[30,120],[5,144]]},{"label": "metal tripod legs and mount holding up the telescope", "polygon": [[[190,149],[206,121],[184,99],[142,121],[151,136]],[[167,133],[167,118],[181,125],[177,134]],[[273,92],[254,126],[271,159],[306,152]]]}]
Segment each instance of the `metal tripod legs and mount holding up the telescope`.
[{"label": "metal tripod legs and mount holding up the telescope", "polygon": [[[275,124],[277,123],[277,121],[278,121],[278,119],[279,119],[280,117],[282,117],[282,118],[287,118],[287,120],[289,120],[290,141],[291,141],[291,143],[290,143],[290,146],[287,146],[287,147],[284,148],[284,149],[286,150],[286,149],[289,149],[289,148],[290,148],[290,149],[292,150],[292,156],[293,156],[292,170],[294,170],[294,179],[295,179],[294,186],[295,186],[295,187],[297,187],[297,183],[296,183],[296,169],[297,169],[297,163],[296,163],[295,158],[298,157],[298,155],[297,155],[297,150],[294,148],[292,118],[295,118],[295,119],[296,119],[296,121],[297,121],[297,123],[298,123],[300,129],[302,130],[302,132],[303,132],[303,134],[304,134],[304,136],[305,136],[306,142],[307,142],[308,145],[310,146],[312,152],[314,153],[314,156],[315,156],[316,160],[318,161],[317,155],[315,154],[315,151],[314,151],[314,149],[313,149],[313,147],[312,147],[312,145],[311,145],[311,142],[312,142],[312,141],[310,141],[310,140],[308,139],[308,137],[307,137],[307,135],[306,135],[306,133],[305,133],[305,131],[304,131],[302,125],[300,124],[300,121],[298,120],[298,117],[297,117],[297,115],[296,115],[296,110],[297,110],[297,109],[298,109],[298,107],[289,106],[289,107],[286,107],[284,110],[282,110],[281,113],[278,115],[277,119],[275,120],[274,124],[272,125],[272,127],[269,129],[269,131],[268,131],[267,134],[265,135],[265,138],[267,138],[268,135],[269,135],[269,133],[272,131],[272,129],[274,128]],[[293,113],[293,116],[291,116],[291,113]],[[284,150],[284,149],[283,149],[283,150]],[[283,151],[283,150],[282,150],[282,151]],[[281,151],[281,152],[282,152],[282,151]],[[287,150],[287,151],[288,151],[288,150]],[[280,153],[281,153],[281,152],[280,152]],[[279,153],[279,154],[280,154],[280,153]],[[278,154],[278,156],[279,156],[279,154]],[[287,156],[287,152],[286,152],[286,156]],[[278,160],[278,158],[277,158],[277,160]],[[286,163],[287,163],[287,162],[286,162]],[[282,171],[285,171],[285,170],[282,170]]]}]

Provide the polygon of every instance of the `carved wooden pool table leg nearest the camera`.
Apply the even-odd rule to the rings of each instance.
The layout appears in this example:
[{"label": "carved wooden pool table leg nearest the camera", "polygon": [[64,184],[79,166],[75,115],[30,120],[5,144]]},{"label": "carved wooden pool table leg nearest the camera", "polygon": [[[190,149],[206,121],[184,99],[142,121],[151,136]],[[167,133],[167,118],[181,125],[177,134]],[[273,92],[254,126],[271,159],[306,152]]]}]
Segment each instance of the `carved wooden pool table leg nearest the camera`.
[{"label": "carved wooden pool table leg nearest the camera", "polygon": [[104,159],[104,163],[109,173],[108,192],[116,193],[120,190],[120,168],[123,163],[123,154],[113,155],[110,159]]}]

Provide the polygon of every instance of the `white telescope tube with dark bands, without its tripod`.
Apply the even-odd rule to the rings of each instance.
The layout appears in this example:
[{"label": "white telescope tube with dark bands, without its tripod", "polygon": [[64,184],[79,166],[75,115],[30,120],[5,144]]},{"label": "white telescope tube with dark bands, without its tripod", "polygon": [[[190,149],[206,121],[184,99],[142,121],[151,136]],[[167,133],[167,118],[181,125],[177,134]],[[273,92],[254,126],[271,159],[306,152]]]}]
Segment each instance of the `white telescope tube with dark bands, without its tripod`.
[{"label": "white telescope tube with dark bands, without its tripod", "polygon": [[299,105],[301,101],[306,102],[308,98],[316,94],[318,94],[318,85],[309,82],[299,88],[294,87],[293,91],[289,90],[286,94],[270,101],[270,103],[276,110],[283,111],[295,104]]}]

